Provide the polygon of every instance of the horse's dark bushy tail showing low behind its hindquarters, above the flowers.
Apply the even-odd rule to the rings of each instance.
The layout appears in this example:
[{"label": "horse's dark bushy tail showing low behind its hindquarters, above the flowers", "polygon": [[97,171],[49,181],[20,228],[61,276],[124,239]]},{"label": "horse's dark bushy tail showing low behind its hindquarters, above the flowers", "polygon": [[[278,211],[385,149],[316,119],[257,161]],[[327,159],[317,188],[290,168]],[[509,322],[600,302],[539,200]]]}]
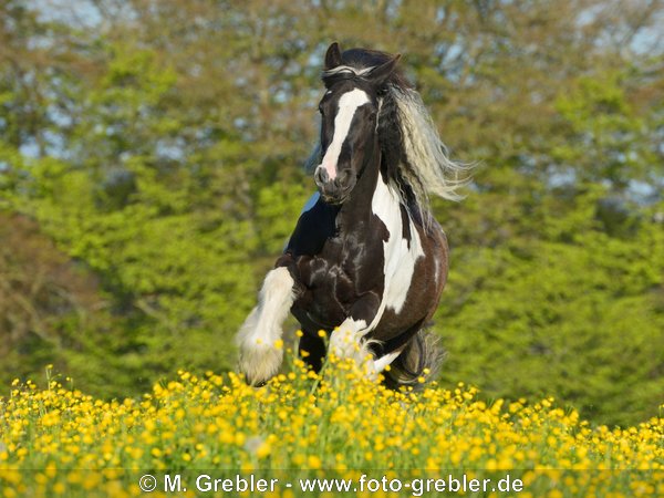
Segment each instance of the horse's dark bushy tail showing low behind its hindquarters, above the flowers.
[{"label": "horse's dark bushy tail showing low behind its hindquarters, above the flowers", "polygon": [[422,388],[424,383],[421,382],[421,377],[424,377],[425,382],[436,380],[444,357],[440,338],[428,329],[422,329],[392,362],[390,370],[383,372],[385,385],[391,388]]}]

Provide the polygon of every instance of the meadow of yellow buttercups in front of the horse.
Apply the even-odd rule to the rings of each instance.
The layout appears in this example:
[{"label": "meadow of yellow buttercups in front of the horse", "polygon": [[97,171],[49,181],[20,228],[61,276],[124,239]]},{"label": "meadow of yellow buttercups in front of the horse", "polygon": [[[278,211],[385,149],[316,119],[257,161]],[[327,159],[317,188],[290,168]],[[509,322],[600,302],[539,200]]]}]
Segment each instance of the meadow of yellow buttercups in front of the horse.
[{"label": "meadow of yellow buttercups in front of the horse", "polygon": [[[236,486],[237,476],[281,483],[239,496],[339,496],[298,487],[313,477],[349,479],[346,496],[435,496],[422,483],[449,475],[522,483],[519,492],[453,492],[463,496],[664,492],[661,416],[632,427],[593,426],[552,398],[486,403],[463,383],[394,392],[363,380],[350,363],[332,359],[317,375],[290,347],[287,356],[287,373],[260,388],[234,373],[180,371],[139,398],[111,402],[73,388],[51,369],[43,387],[17,380],[0,398],[0,496],[133,497],[143,494],[145,474],[158,483],[149,496],[222,491],[214,492],[209,479],[194,486],[199,475]],[[179,492],[164,488],[165,475]],[[383,476],[412,487],[393,492],[385,481],[378,486]],[[360,490],[361,479],[374,479],[374,487]]]}]

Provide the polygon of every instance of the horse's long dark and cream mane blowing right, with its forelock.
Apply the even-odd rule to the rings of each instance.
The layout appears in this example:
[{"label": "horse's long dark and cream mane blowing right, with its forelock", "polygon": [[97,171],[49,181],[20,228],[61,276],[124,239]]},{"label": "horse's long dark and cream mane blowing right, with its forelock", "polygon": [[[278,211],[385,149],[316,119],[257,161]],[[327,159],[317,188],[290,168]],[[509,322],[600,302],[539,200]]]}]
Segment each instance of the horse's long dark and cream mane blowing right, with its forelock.
[{"label": "horse's long dark and cream mane blowing right, with its forelock", "polygon": [[[367,49],[351,49],[342,54],[342,65],[323,71],[323,82],[336,77],[362,77],[374,66],[390,61],[393,55]],[[424,106],[419,93],[396,69],[387,77],[380,95],[378,137],[383,154],[382,168],[407,205],[428,206],[429,195],[458,200],[458,188],[467,179],[468,167],[455,163],[447,155],[436,125]],[[320,143],[305,163],[313,169],[321,160]]]}]

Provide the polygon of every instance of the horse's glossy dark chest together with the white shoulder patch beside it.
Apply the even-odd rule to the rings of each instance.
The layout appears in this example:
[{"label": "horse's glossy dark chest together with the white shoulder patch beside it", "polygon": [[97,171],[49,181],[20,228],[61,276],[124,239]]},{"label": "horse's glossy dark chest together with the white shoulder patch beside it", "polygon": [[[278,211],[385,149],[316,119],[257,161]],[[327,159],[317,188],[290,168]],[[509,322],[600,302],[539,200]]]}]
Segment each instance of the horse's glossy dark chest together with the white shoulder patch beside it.
[{"label": "horse's glossy dark chest together with the white shoulder patch beside it", "polygon": [[424,257],[418,231],[397,195],[378,180],[371,211],[341,218],[335,236],[328,237],[317,253],[298,259],[302,294],[293,312],[310,326],[339,325],[353,307],[370,295],[377,326],[388,310],[405,308],[417,261]]}]

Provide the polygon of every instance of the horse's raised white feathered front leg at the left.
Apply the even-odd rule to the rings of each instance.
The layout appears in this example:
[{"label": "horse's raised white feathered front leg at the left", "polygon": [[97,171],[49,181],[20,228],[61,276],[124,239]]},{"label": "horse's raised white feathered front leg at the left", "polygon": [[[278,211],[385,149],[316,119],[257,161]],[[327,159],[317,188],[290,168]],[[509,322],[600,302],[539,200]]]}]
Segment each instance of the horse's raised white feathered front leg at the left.
[{"label": "horse's raised white feathered front leg at the left", "polygon": [[239,367],[249,384],[260,384],[279,371],[283,347],[277,342],[294,301],[293,287],[294,280],[286,267],[268,272],[258,294],[258,305],[237,333]]}]

